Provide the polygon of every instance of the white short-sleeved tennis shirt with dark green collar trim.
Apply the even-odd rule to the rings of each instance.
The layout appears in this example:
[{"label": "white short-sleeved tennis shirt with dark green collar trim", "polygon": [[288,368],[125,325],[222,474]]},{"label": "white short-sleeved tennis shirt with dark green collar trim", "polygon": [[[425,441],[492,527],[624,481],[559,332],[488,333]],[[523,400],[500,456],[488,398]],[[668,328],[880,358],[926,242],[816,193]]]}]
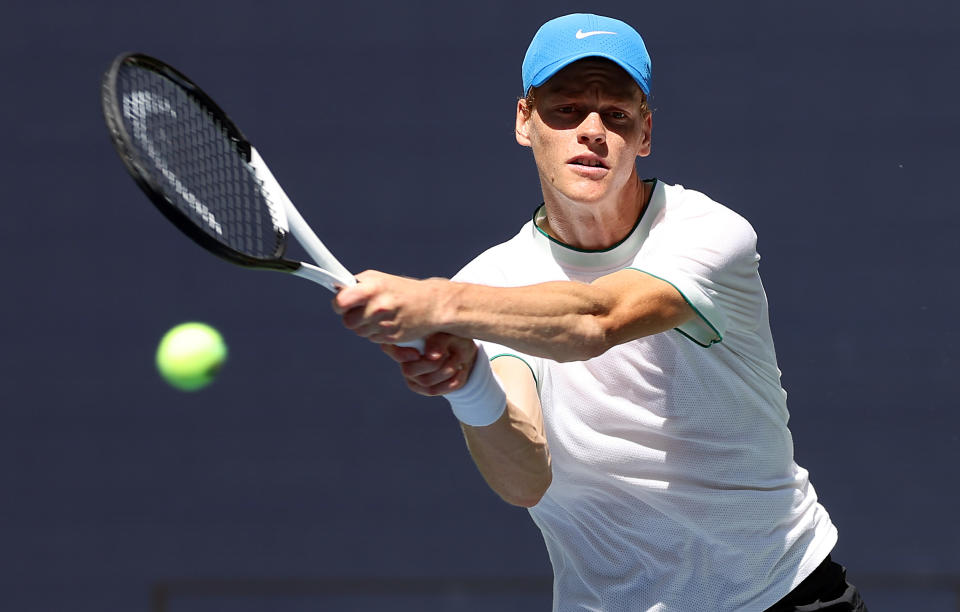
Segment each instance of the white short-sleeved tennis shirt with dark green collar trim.
[{"label": "white short-sleeved tennis shirt with dark green collar trim", "polygon": [[745,219],[658,181],[610,249],[568,247],[532,220],[455,277],[521,286],[634,268],[698,315],[573,363],[484,343],[493,359],[526,361],[537,381],[553,482],[530,515],[553,565],[554,610],[761,611],[836,543],[793,460],[759,259]]}]

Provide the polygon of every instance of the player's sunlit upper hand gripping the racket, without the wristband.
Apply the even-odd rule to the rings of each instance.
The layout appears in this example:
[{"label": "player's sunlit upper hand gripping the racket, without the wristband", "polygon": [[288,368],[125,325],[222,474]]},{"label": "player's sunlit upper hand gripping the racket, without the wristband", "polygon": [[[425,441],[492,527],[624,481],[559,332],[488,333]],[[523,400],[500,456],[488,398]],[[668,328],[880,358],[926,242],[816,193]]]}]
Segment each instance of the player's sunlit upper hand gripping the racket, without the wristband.
[{"label": "player's sunlit upper hand gripping the racket, without the wristband", "polygon": [[341,289],[333,310],[347,329],[380,344],[408,342],[439,331],[443,279],[415,280],[368,270]]}]

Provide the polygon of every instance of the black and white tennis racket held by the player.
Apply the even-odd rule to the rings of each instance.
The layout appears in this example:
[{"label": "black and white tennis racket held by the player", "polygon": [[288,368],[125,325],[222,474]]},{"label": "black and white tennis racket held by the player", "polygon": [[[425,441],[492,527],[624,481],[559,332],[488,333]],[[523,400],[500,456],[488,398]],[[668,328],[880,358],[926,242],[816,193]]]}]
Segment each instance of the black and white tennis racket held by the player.
[{"label": "black and white tennis racket held by the player", "polygon": [[[336,292],[353,274],[320,241],[250,141],[199,86],[140,53],[117,56],[100,102],[133,180],[183,233],[227,261]],[[314,264],[286,259],[290,235]],[[406,343],[422,351],[423,342]]]}]

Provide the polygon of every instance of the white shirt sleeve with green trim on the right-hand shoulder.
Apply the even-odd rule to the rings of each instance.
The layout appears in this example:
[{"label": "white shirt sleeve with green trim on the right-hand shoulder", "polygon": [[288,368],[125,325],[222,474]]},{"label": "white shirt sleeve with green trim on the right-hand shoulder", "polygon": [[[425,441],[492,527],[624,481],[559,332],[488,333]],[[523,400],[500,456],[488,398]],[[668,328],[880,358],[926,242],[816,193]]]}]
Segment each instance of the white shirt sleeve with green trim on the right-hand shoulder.
[{"label": "white shirt sleeve with green trim on the right-hand shoulder", "polygon": [[677,330],[702,346],[722,342],[729,330],[756,327],[765,303],[756,232],[740,215],[710,204],[658,224],[630,266],[680,292],[697,316]]}]

